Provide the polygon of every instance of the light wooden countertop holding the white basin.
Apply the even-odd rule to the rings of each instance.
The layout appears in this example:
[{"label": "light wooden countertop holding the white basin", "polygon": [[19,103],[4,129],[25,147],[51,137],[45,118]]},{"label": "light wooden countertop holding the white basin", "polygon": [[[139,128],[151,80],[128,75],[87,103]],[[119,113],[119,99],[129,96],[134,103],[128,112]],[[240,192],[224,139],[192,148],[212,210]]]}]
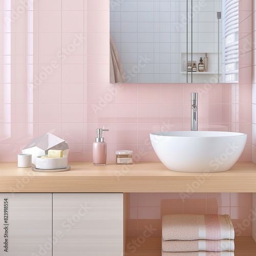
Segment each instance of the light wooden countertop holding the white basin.
[{"label": "light wooden countertop holding the white basin", "polygon": [[71,162],[67,172],[39,173],[0,163],[0,193],[256,192],[256,165],[237,162],[221,173],[179,173],[160,162],[94,166]]}]

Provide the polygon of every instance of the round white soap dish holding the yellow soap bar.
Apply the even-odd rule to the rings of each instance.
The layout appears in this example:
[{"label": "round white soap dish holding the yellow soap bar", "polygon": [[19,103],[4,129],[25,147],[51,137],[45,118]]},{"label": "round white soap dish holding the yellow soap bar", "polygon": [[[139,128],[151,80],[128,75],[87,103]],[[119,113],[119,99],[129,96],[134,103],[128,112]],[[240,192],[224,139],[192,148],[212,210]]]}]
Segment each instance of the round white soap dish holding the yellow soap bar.
[{"label": "round white soap dish holding the yellow soap bar", "polygon": [[36,157],[35,167],[37,169],[62,169],[68,166],[68,156],[59,158],[42,158],[43,156]]}]

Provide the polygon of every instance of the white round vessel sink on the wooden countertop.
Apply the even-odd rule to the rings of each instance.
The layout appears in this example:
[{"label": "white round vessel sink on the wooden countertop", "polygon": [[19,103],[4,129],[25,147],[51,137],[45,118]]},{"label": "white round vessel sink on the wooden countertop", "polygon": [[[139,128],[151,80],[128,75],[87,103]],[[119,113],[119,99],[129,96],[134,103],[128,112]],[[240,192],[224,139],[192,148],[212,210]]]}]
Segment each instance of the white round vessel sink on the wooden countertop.
[{"label": "white round vessel sink on the wooden countertop", "polygon": [[160,161],[177,172],[214,173],[230,169],[241,156],[247,135],[234,132],[176,131],[151,133]]}]

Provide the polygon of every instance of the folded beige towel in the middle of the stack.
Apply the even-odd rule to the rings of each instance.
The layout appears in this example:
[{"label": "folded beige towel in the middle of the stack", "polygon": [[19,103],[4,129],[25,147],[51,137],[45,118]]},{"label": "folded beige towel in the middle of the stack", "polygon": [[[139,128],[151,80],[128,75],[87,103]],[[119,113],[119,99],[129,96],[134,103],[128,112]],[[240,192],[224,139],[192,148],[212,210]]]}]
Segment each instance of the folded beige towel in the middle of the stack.
[{"label": "folded beige towel in the middle of the stack", "polygon": [[162,239],[162,251],[233,251],[234,240],[168,240]]}]

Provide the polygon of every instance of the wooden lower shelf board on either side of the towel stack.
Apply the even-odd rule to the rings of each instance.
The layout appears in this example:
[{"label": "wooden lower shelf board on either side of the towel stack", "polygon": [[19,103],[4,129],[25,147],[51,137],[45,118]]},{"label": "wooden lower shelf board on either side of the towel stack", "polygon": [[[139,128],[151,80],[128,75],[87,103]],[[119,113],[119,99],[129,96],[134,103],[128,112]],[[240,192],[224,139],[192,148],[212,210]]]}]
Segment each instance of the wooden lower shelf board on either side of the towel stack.
[{"label": "wooden lower shelf board on either side of the towel stack", "polygon": [[[136,247],[133,241],[137,239],[127,237],[131,249],[126,249],[125,256],[161,256],[161,238],[145,238],[141,244],[134,243],[140,245]],[[236,256],[255,256],[256,243],[251,237],[237,237],[234,239],[234,253]]]}]

